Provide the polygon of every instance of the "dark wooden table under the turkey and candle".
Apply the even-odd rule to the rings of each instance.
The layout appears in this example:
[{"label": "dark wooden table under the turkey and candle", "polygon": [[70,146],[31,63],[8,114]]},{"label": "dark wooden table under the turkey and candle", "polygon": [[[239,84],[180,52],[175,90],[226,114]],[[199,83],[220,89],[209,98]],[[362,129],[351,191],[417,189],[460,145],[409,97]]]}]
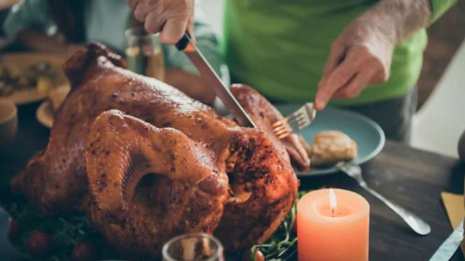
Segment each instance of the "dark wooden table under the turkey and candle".
[{"label": "dark wooden table under the turkey and candle", "polygon": [[[0,195],[7,189],[5,177],[20,171],[28,158],[47,143],[49,130],[35,120],[37,105],[18,108],[17,141],[8,151],[0,152]],[[323,186],[344,188],[360,193],[370,202],[370,260],[429,260],[452,232],[440,193],[463,193],[465,166],[453,158],[387,142],[380,155],[363,165],[363,171],[373,189],[424,218],[430,223],[432,233],[426,237],[417,236],[388,207],[365,193],[342,173],[304,177],[301,179],[301,189]],[[4,215],[0,215],[0,221],[2,219],[5,220]],[[4,233],[4,227],[0,224],[1,233]],[[19,260],[10,256],[11,253],[4,237],[1,237],[0,260]],[[452,260],[464,259],[457,252]]]}]

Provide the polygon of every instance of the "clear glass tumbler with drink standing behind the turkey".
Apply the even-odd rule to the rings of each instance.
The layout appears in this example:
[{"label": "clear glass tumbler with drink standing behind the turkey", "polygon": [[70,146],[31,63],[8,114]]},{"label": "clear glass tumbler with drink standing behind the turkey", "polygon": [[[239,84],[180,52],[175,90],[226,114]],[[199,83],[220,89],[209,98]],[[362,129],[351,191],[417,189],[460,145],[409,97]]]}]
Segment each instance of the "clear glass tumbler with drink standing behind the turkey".
[{"label": "clear glass tumbler with drink standing behind the turkey", "polygon": [[163,81],[165,67],[158,34],[148,33],[139,26],[128,28],[124,35],[128,69]]}]

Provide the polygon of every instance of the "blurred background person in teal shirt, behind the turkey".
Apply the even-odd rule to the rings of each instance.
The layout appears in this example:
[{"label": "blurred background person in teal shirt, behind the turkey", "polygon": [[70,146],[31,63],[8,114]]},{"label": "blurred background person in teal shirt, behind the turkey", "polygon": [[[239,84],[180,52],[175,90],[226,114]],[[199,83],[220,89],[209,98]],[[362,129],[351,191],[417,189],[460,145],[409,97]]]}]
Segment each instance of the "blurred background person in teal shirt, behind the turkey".
[{"label": "blurred background person in teal shirt, behind the turkey", "polygon": [[[199,48],[219,73],[223,61],[217,39],[196,11],[193,31]],[[33,51],[69,56],[85,42],[99,41],[124,54],[125,30],[134,25],[124,0],[22,0],[3,24],[10,42]],[[163,45],[165,81],[187,95],[211,104],[215,98],[196,68],[173,45]]]}]

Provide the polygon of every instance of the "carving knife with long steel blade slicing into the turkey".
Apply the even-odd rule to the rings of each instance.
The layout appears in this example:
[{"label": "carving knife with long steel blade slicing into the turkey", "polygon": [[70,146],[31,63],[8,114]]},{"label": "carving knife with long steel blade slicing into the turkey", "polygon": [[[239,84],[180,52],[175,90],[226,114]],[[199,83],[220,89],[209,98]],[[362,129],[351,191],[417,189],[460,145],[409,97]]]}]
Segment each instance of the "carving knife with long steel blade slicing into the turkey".
[{"label": "carving knife with long steel blade slicing into the turkey", "polygon": [[232,95],[229,88],[224,85],[197,46],[192,42],[192,38],[188,32],[184,33],[184,36],[176,43],[176,47],[187,55],[200,74],[210,83],[216,96],[224,103],[237,122],[241,126],[255,128],[256,126],[252,119]]}]

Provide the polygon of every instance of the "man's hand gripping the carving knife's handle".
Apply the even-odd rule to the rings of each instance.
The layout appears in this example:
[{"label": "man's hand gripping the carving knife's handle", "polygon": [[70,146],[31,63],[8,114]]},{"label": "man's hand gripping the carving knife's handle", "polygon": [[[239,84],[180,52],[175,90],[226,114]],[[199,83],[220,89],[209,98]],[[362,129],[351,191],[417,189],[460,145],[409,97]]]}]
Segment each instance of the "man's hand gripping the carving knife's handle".
[{"label": "man's hand gripping the carving knife's handle", "polygon": [[126,0],[148,32],[160,32],[160,42],[174,44],[186,28],[193,35],[194,0]]}]

